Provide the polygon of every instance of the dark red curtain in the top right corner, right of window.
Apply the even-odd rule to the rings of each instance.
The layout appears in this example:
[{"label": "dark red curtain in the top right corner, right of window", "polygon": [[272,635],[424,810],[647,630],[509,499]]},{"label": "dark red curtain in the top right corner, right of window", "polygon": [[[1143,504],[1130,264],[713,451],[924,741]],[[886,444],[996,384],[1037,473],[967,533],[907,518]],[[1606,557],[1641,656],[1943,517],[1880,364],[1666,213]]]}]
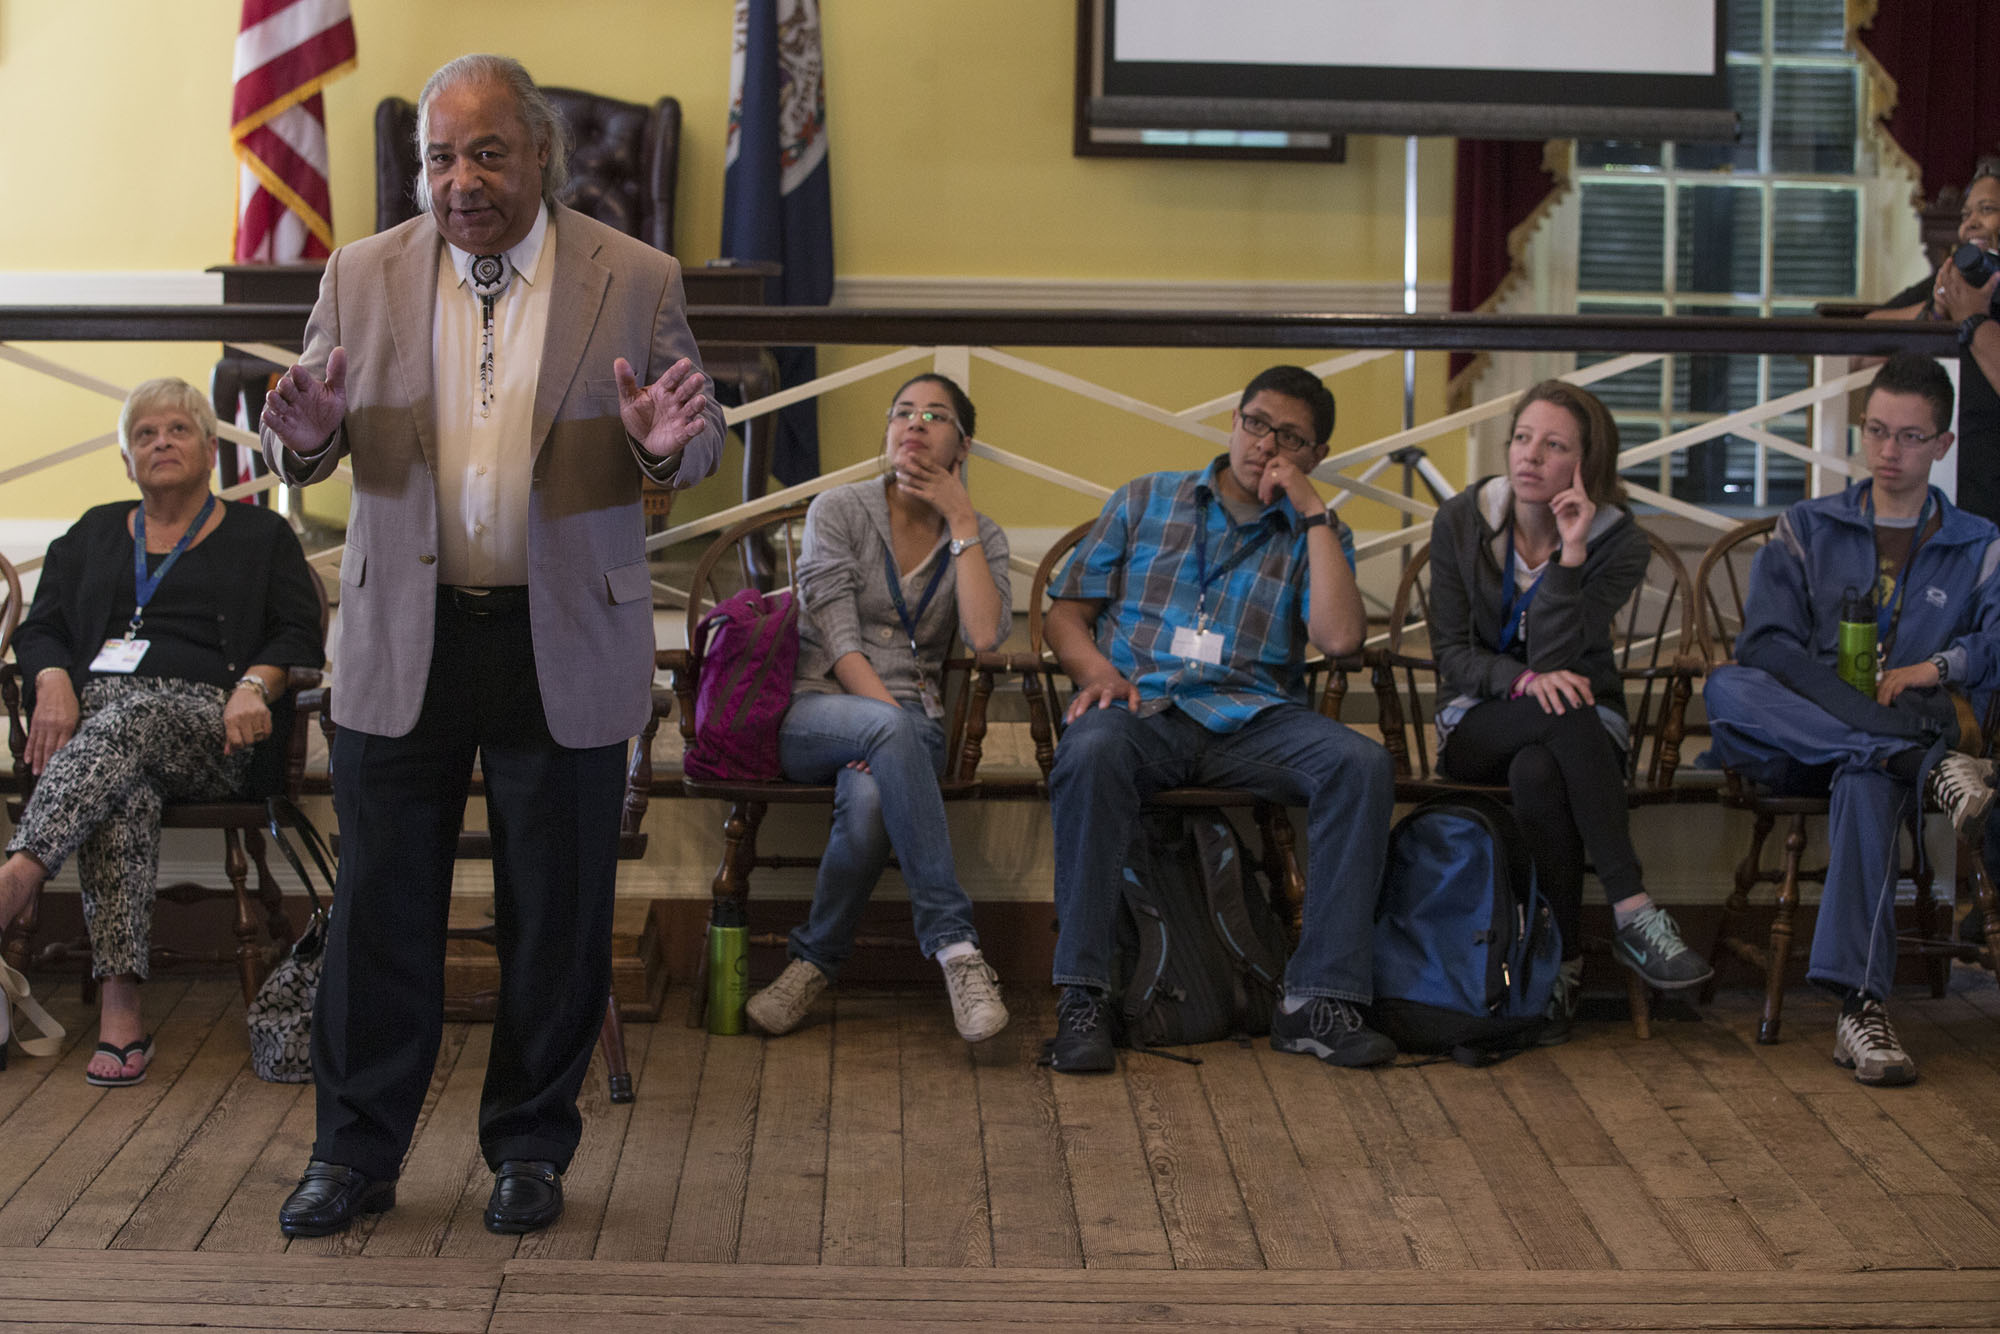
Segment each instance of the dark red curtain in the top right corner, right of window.
[{"label": "dark red curtain in the top right corner, right of window", "polygon": [[1924,174],[1926,200],[2000,152],[2000,4],[1880,0],[1856,42],[1896,80],[1884,126]]}]

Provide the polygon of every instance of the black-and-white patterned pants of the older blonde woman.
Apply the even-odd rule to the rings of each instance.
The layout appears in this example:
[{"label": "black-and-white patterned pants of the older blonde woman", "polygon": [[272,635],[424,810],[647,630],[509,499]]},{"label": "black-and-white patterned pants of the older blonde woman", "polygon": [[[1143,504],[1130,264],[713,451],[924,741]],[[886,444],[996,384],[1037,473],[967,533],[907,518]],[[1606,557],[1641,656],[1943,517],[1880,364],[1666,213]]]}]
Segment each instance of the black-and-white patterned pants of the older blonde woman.
[{"label": "black-and-white patterned pants of the older blonde woman", "polygon": [[100,676],[82,720],[42,770],[8,854],[56,874],[76,854],[92,972],[148,974],[160,876],[160,804],[240,790],[250,752],[222,754],[220,686],[160,676]]}]

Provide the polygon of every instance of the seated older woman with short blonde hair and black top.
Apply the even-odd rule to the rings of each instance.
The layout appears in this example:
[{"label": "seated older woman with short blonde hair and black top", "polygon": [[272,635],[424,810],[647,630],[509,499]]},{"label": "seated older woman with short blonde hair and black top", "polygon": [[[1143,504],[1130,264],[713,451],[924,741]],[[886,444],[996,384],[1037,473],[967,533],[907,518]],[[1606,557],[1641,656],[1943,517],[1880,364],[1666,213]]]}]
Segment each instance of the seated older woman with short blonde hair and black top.
[{"label": "seated older woman with short blonde hair and black top", "polygon": [[208,488],[216,414],[148,380],[118,416],[140,498],[100,504],[48,548],[14,636],[30,692],[34,794],[0,862],[0,928],[74,854],[100,978],[84,1078],[138,1084],[152,1060],[138,984],[152,940],[160,806],[250,780],[286,668],[320,666],[320,600],[290,524]]}]

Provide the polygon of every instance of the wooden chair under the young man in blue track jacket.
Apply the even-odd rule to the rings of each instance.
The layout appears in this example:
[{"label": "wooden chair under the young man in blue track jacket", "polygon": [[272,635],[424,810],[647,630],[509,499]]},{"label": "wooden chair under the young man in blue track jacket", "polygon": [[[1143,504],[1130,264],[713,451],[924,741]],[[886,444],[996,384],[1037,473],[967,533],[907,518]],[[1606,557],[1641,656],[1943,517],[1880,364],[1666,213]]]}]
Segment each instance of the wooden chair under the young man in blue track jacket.
[{"label": "wooden chair under the young man in blue track jacket", "polygon": [[[1738,524],[1708,548],[1702,556],[1702,564],[1694,574],[1694,588],[1698,590],[1698,616],[1696,630],[1700,636],[1702,656],[1710,666],[1720,666],[1734,660],[1736,636],[1744,626],[1744,602],[1750,594],[1750,562],[1758,550],[1770,540],[1772,530],[1778,526],[1776,516],[1754,518],[1746,524]],[[1988,718],[1986,736],[1994,732],[1992,720]],[[1730,890],[1728,902],[1722,906],[1722,920],[1716,926],[1716,942],[1710,948],[1710,958],[1716,958],[1722,950],[1744,960],[1752,968],[1764,974],[1764,1016],[1758,1022],[1758,1042],[1776,1042],[1778,1028],[1784,1014],[1784,984],[1786,972],[1792,962],[1792,936],[1798,918],[1798,886],[1800,882],[1826,884],[1824,866],[1806,866],[1806,830],[1808,820],[1826,816],[1830,808],[1830,798],[1826,796],[1780,796],[1758,784],[1750,782],[1742,774],[1724,768],[1724,786],[1720,792],[1722,804],[1730,810],[1744,810],[1752,816],[1750,846],[1742,860],[1736,864],[1736,884]],[[1928,806],[1928,810],[1936,810]],[[1764,866],[1764,844],[1772,834],[1776,822],[1786,820],[1784,834],[1784,858],[1778,866]],[[1918,846],[1922,840],[1922,816],[1912,814],[1908,822],[1912,862],[1906,866],[1908,878],[1916,884],[1916,932],[1898,938],[1898,952],[1918,954],[1924,960],[1926,980],[1930,982],[1930,994],[1942,996],[1950,972],[1950,958],[1954,954],[1968,954],[1968,946],[1956,946],[1950,940],[1950,904],[1938,902],[1934,896],[1934,874],[1930,870],[1928,858],[1918,856]],[[1958,842],[1958,866],[1960,876],[1968,878],[1972,892],[1988,922],[1988,952],[1992,950],[1992,928],[2000,926],[2000,916],[1994,912],[1994,892],[1988,884],[1984,870],[1972,874],[1968,868],[1980,868],[1980,850],[1976,844],[1964,840]],[[1750,892],[1760,884],[1774,884],[1778,888],[1776,912],[1770,924],[1770,940],[1758,942],[1746,934],[1738,934],[1738,922],[1750,910]],[[1710,978],[1702,992],[1702,998],[1714,994],[1716,982]]]}]

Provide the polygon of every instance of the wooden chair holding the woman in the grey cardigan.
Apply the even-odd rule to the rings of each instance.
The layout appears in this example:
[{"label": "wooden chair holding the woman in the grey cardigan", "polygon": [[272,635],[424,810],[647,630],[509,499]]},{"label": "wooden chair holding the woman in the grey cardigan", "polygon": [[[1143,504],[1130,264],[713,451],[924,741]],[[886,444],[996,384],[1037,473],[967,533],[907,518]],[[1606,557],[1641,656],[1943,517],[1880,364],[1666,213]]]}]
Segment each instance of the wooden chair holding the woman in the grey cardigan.
[{"label": "wooden chair holding the woman in the grey cardigan", "polygon": [[[756,580],[766,590],[792,588],[798,578],[798,542],[806,518],[806,506],[794,504],[770,514],[752,516],[718,536],[694,566],[694,580],[688,588],[688,648],[660,650],[658,666],[668,674],[672,696],[680,704],[680,736],[694,742],[694,698],[700,692],[702,656],[696,648],[696,628],[718,602],[750,586]],[[762,556],[770,552],[766,566]],[[770,580],[766,584],[766,580]],[[946,770],[938,780],[944,800],[968,800],[980,796],[978,768],[986,746],[986,706],[992,698],[998,674],[1032,674],[1032,660],[1020,654],[954,654],[944,662],[944,738]],[[758,866],[766,868],[808,868],[818,866],[816,856],[788,856],[758,852],[758,828],[772,806],[832,806],[832,784],[682,778],[688,796],[700,796],[728,804],[722,820],[722,860],[716,864],[712,896],[748,908],[750,874]],[[894,862],[892,862],[894,864]],[[784,946],[778,932],[750,936],[754,946]],[[858,948],[902,946],[906,938],[856,936]],[[688,1006],[688,1024],[704,1022],[708,1004],[708,954],[702,952],[700,970],[694,980],[694,994]]]}]

